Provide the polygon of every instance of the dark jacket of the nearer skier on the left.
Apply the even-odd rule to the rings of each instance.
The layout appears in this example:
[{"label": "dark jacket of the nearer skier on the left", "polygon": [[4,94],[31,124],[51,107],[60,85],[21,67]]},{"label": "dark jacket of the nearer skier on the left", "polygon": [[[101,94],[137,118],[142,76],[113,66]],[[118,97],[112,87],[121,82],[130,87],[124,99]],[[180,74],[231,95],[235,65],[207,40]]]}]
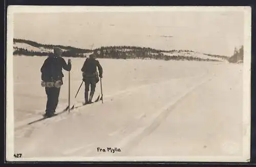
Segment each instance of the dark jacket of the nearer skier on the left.
[{"label": "dark jacket of the nearer skier on the left", "polygon": [[41,67],[41,80],[45,82],[62,81],[64,77],[62,68],[70,71],[71,63],[67,64],[62,57],[48,57]]}]

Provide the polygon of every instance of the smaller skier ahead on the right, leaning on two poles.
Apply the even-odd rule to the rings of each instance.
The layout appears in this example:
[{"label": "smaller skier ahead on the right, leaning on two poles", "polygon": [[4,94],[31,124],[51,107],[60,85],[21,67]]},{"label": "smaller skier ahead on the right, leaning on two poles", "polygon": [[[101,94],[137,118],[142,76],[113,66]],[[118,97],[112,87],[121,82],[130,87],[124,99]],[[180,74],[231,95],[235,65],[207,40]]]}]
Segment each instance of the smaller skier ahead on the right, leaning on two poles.
[{"label": "smaller skier ahead on the right, leaning on two poles", "polygon": [[[99,70],[99,75],[97,72],[97,67]],[[85,90],[84,90],[84,105],[92,103],[94,91],[96,84],[99,82],[99,77],[102,78],[102,67],[98,60],[96,60],[96,55],[91,54],[90,58],[87,58],[86,61],[83,63],[81,68],[83,81],[85,83]],[[91,85],[90,97],[88,100],[88,92],[89,87]]]}]

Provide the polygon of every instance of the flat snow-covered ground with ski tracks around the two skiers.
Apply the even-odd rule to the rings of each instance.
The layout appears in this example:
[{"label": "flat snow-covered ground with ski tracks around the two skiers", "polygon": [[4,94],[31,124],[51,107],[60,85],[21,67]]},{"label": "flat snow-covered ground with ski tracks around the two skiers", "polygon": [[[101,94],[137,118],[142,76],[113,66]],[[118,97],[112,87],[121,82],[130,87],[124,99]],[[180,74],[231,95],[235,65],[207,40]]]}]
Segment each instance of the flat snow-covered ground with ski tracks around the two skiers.
[{"label": "flat snow-covered ground with ski tracks around the two skiers", "polygon": [[[103,104],[26,126],[45,110],[44,59],[14,56],[14,152],[24,158],[242,154],[242,64],[99,59]],[[83,61],[72,58],[72,97]],[[68,103],[64,75],[59,110]],[[83,101],[83,90],[76,101]],[[94,98],[99,93],[98,83]],[[97,151],[108,147],[121,152]]]}]

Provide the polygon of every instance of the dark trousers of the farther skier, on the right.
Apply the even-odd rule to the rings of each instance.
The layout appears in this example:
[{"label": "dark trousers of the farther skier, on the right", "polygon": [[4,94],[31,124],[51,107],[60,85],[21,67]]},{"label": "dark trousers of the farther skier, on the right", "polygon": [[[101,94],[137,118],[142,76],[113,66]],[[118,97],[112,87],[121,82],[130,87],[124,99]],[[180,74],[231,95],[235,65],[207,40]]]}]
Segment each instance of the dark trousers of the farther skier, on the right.
[{"label": "dark trousers of the farther skier, on the right", "polygon": [[[86,78],[86,81],[84,81],[84,83],[86,85],[86,88],[85,88],[85,91],[84,91],[84,100],[86,101],[86,103],[88,101],[92,102],[95,87],[96,87],[96,79],[94,77],[90,77],[90,78],[88,77],[88,78]],[[91,85],[91,91],[90,91],[90,97],[89,97],[89,100],[88,100],[88,91],[89,91],[90,85]]]}]

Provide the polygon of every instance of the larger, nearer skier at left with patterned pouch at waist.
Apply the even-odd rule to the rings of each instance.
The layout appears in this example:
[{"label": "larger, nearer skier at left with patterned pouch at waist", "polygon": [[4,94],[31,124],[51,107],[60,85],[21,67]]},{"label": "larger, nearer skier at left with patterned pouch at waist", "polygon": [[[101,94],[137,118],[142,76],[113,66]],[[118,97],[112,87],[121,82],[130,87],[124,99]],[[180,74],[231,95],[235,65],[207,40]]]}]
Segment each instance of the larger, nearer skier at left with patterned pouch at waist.
[{"label": "larger, nearer skier at left with patterned pouch at waist", "polygon": [[62,50],[59,47],[54,47],[54,53],[49,54],[41,67],[41,86],[45,87],[47,94],[46,114],[45,116],[50,117],[55,115],[55,109],[58,105],[59,91],[63,84],[62,68],[70,71],[71,60],[66,61],[60,57]]}]

